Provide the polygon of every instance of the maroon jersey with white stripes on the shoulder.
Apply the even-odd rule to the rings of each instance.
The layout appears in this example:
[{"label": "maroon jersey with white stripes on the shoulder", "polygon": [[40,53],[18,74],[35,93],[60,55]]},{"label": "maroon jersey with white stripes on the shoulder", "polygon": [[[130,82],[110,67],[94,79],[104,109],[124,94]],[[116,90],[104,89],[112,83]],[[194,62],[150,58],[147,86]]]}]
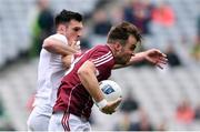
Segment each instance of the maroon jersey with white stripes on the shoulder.
[{"label": "maroon jersey with white stripes on the shoulder", "polygon": [[78,116],[89,118],[93,101],[77,74],[79,68],[90,60],[96,65],[98,81],[107,80],[114,65],[113,54],[108,45],[97,45],[76,58],[61,81],[53,112],[64,111]]}]

